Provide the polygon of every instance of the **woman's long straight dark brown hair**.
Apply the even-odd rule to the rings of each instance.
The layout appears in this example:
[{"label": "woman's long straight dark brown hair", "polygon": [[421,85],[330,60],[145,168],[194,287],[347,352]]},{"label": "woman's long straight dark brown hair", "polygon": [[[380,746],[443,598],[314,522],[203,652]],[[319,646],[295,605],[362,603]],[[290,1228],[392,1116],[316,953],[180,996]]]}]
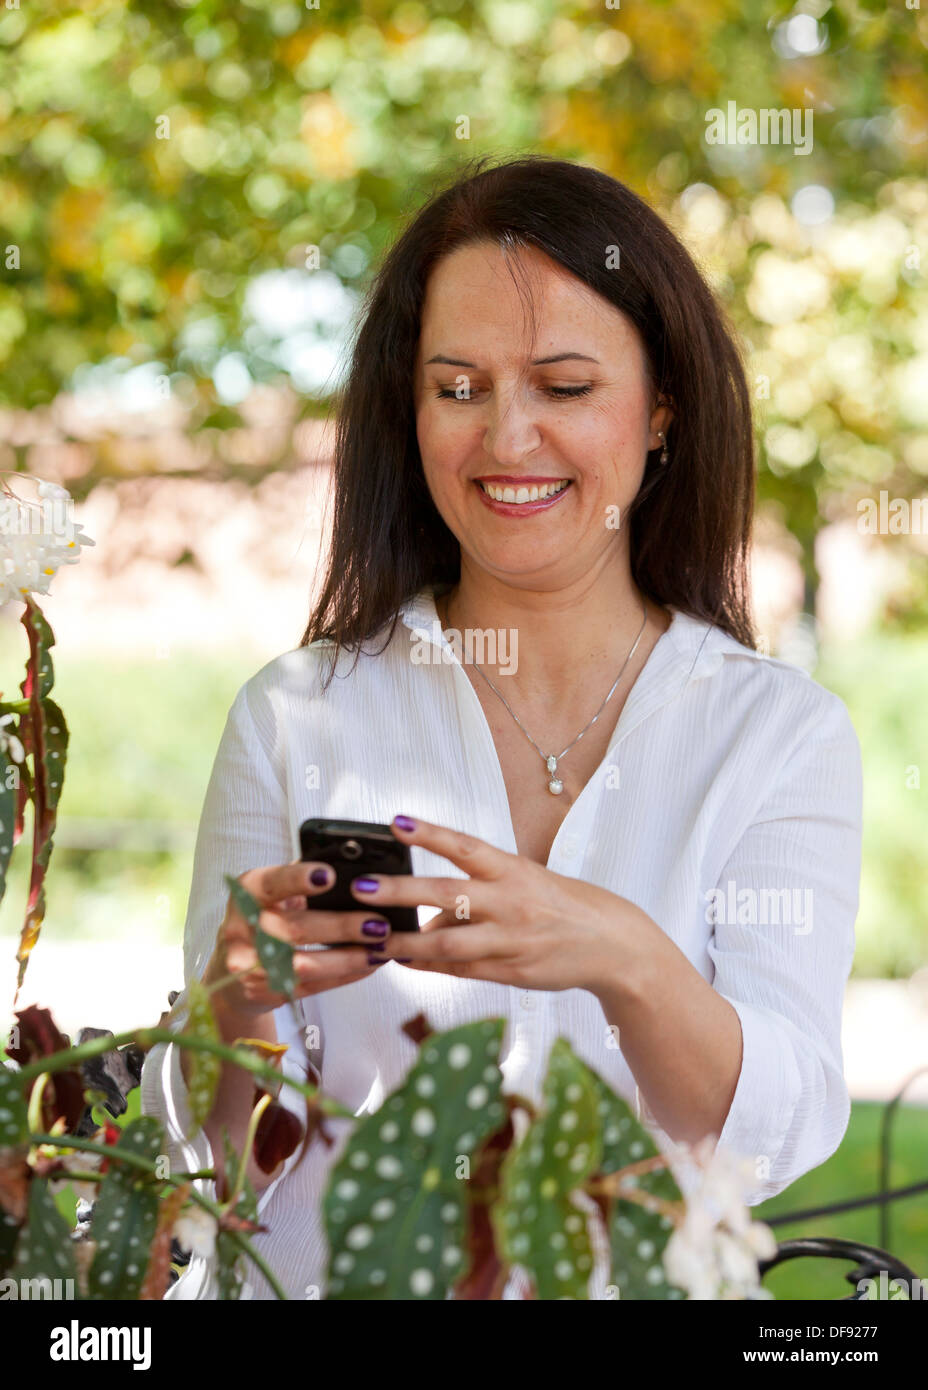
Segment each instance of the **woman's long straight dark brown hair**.
[{"label": "woman's long straight dark brown hair", "polygon": [[[629,509],[632,580],[656,603],[754,645],[747,550],[752,411],[735,334],[667,224],[599,170],[547,156],[471,161],[388,252],[360,318],[338,400],[332,537],[300,646],[358,648],[428,584],[460,577],[460,545],[432,502],[415,436],[413,368],[425,286],[472,242],[533,246],[620,309],[640,334],[652,385],[671,402],[670,463],[649,456]],[[620,270],[607,249],[618,247]],[[614,260],[614,256],[613,256]]]}]

